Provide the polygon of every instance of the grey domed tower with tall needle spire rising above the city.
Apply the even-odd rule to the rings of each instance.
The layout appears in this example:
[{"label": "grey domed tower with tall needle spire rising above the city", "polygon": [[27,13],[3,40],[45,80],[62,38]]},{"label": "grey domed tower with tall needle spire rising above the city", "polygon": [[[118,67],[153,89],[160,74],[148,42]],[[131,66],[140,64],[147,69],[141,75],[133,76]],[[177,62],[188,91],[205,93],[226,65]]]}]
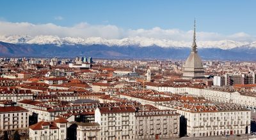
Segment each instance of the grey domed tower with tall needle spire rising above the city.
[{"label": "grey domed tower with tall needle spire rising above the city", "polygon": [[183,77],[186,79],[205,78],[202,60],[197,53],[196,46],[196,20],[194,25],[192,50],[185,62]]}]

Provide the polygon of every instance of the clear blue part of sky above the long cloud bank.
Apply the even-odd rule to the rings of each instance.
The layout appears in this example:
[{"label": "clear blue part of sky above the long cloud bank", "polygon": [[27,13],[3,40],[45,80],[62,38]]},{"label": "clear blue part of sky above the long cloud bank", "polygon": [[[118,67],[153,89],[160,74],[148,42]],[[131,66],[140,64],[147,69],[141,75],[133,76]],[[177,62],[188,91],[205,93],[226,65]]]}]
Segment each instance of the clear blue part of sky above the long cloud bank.
[{"label": "clear blue part of sky above the long cloud bank", "polygon": [[253,0],[2,0],[0,3],[0,20],[4,22],[52,23],[63,27],[86,22],[115,25],[124,30],[160,27],[189,31],[196,17],[199,32],[256,35]]}]

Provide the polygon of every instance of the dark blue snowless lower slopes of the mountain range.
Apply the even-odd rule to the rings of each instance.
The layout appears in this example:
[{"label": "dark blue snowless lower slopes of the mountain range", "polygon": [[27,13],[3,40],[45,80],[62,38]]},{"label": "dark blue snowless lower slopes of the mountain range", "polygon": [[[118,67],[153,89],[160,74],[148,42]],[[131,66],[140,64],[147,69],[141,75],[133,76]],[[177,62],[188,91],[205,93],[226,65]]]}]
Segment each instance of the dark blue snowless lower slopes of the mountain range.
[{"label": "dark blue snowless lower slopes of the mountain range", "polygon": [[[90,56],[105,59],[186,59],[189,47],[159,46],[107,46],[107,45],[37,45],[0,42],[3,57],[76,57]],[[256,48],[243,46],[223,50],[221,48],[199,48],[202,59],[256,60]]]}]

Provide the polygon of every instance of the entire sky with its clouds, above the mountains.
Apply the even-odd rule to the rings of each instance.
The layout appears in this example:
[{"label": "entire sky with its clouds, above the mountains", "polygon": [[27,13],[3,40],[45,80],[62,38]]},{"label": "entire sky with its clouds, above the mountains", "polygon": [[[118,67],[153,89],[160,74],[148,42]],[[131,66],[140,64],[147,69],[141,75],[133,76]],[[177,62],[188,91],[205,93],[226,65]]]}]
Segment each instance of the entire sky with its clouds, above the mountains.
[{"label": "entire sky with its clouds, above the mountains", "polygon": [[256,41],[253,0],[0,1],[0,35]]}]

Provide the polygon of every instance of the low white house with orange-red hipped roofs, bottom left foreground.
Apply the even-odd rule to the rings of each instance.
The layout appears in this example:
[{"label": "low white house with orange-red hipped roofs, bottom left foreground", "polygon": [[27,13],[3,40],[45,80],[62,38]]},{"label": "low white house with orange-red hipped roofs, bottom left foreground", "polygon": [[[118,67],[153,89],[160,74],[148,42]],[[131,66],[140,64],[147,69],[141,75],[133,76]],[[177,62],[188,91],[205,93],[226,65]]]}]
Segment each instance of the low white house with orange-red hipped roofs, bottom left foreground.
[{"label": "low white house with orange-red hipped roofs, bottom left foreground", "polygon": [[64,140],[67,139],[67,120],[59,118],[53,122],[41,121],[29,126],[31,140]]}]

